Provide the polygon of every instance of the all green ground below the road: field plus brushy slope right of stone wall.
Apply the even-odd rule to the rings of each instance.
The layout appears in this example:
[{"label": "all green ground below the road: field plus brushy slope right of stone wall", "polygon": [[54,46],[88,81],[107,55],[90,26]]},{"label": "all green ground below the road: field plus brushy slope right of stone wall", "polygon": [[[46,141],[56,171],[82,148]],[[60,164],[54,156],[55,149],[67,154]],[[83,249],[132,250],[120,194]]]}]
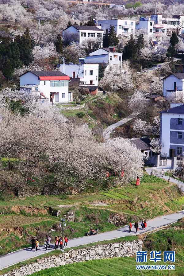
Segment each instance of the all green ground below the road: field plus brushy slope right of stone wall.
[{"label": "all green ground below the road: field plus brushy slope right of stone wall", "polygon": [[124,275],[184,275],[184,220],[179,220],[177,223],[168,226],[167,229],[157,231],[147,236],[144,241],[143,250],[148,251],[148,262],[145,265],[155,264],[149,261],[149,252],[151,250],[175,250],[175,262],[164,263],[158,261],[157,265],[175,265],[175,270],[136,270],[136,258],[113,258],[105,260],[94,260],[82,263],[74,263],[65,265],[64,267],[50,268],[32,274],[33,276],[71,276],[71,275],[107,275],[107,276],[124,276]]}]

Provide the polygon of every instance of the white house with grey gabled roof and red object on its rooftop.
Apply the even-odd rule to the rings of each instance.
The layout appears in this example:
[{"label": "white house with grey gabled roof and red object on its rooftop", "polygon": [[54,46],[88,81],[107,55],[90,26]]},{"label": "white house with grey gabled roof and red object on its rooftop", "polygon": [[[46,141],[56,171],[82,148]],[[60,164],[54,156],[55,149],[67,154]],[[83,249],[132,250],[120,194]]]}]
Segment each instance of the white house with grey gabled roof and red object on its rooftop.
[{"label": "white house with grey gabled roof and red object on its rooftop", "polygon": [[100,48],[94,52],[91,52],[89,56],[85,57],[86,63],[106,63],[109,65],[122,66],[122,53],[116,52],[115,48]]}]

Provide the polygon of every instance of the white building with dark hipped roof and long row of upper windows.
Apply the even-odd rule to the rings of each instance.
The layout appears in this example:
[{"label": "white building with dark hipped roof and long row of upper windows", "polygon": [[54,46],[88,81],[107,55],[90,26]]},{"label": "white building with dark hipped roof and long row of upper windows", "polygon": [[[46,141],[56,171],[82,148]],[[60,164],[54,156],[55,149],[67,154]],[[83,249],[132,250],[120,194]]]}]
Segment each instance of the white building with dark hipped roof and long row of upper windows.
[{"label": "white building with dark hipped roof and long row of upper windows", "polygon": [[102,47],[103,33],[101,27],[72,25],[62,31],[62,36],[64,40],[72,38],[74,41],[78,41],[79,44],[85,41],[98,42]]}]

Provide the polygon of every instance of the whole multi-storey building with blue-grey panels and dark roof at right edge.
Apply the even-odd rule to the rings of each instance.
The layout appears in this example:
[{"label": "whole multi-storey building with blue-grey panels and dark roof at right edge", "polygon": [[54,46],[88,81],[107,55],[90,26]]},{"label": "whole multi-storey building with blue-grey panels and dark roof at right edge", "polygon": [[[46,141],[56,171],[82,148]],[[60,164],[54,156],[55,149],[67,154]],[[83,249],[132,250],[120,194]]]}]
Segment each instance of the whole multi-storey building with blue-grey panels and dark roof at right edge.
[{"label": "whole multi-storey building with blue-grey panels and dark roof at right edge", "polygon": [[171,103],[171,108],[160,112],[161,153],[167,157],[184,152],[184,104]]}]

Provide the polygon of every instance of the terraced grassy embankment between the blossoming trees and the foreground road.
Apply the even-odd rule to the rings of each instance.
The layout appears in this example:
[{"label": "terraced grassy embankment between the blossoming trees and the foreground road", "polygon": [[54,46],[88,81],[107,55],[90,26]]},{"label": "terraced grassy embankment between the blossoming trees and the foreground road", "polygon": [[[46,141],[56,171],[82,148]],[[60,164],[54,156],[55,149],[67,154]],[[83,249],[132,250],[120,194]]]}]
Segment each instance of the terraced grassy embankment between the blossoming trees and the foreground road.
[{"label": "terraced grassy embankment between the blossoming trees and the foreground road", "polygon": [[[155,216],[181,210],[184,197],[172,183],[155,176],[144,175],[139,188],[130,183],[121,188],[96,193],[61,196],[32,196],[0,201],[0,254],[6,254],[22,247],[28,247],[30,236],[36,235],[40,243],[50,228],[58,235],[59,218],[67,211],[74,213],[74,222],[67,222],[64,232],[69,239],[85,235],[90,227],[101,232],[119,226],[108,222],[118,215],[122,225],[128,220],[150,219]],[[60,210],[59,217],[53,216]],[[53,240],[52,237],[52,240]]]}]

